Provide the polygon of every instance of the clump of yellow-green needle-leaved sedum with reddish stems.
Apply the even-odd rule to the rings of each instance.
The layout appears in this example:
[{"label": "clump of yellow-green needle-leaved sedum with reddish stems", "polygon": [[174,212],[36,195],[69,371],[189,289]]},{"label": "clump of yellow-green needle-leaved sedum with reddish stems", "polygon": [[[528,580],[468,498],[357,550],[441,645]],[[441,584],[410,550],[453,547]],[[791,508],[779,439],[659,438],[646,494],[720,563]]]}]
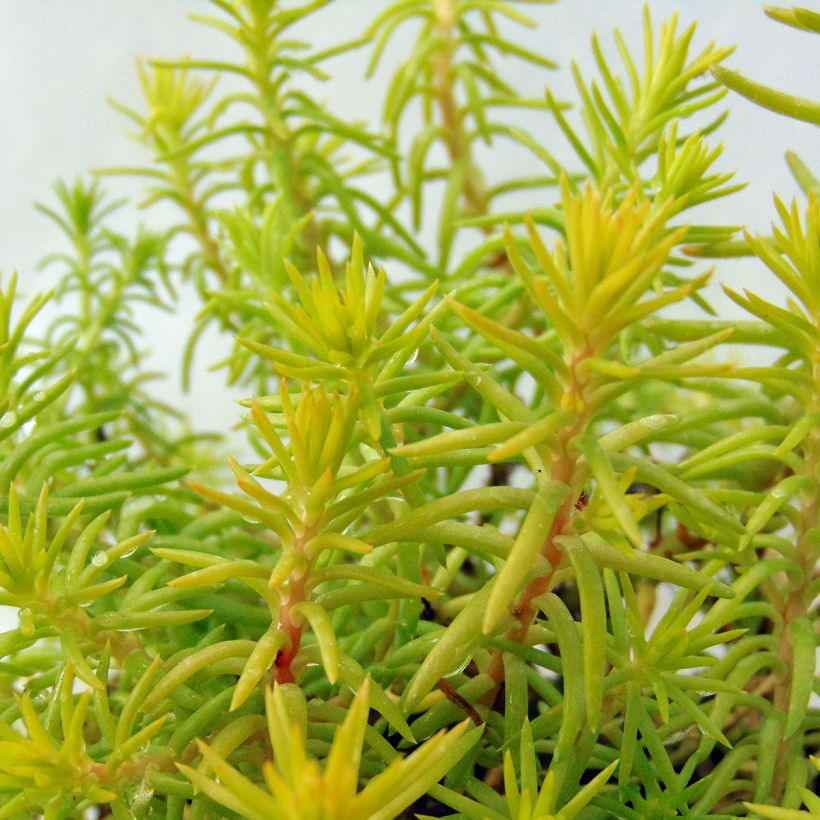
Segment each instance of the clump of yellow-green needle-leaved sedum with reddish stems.
[{"label": "clump of yellow-green needle-leaved sedum with reddish stems", "polygon": [[[145,164],[58,183],[54,291],[3,277],[0,818],[817,817],[820,189],[790,154],[770,235],[697,206],[726,86],[820,104],[648,10],[559,99],[533,2],[317,51],[329,4],[202,0],[231,59],[143,64]],[[314,96],[341,60],[380,122]],[[236,459],[144,366],[180,286]]]}]

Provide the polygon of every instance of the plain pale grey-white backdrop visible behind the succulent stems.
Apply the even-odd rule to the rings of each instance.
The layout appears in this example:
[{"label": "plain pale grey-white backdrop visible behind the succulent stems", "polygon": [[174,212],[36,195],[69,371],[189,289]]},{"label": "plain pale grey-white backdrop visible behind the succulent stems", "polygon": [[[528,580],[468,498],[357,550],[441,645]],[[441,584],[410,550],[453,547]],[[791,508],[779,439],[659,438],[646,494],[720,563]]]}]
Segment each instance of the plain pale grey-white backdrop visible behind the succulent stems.
[{"label": "plain pale grey-white backdrop visible behind the succulent stems", "polygon": [[[810,5],[804,3],[804,5]],[[323,47],[355,38],[385,8],[385,0],[336,0],[315,18],[315,25],[299,32],[301,39]],[[818,96],[820,50],[811,35],[769,20],[763,5],[752,0],[650,0],[655,23],[680,10],[681,24],[697,20],[695,47],[709,41],[736,44],[726,65],[770,85],[803,96]],[[230,56],[226,39],[186,19],[187,13],[208,13],[207,0],[0,0],[0,271],[19,271],[24,294],[48,288],[54,272],[37,273],[45,254],[63,249],[58,230],[33,208],[35,201],[53,203],[51,185],[93,168],[139,164],[148,157],[127,132],[129,123],[106,103],[113,97],[143,110],[135,66],[138,58],[181,55],[220,58]],[[637,0],[563,0],[555,5],[528,8],[536,29],[516,27],[522,45],[554,58],[560,64],[550,87],[559,99],[574,99],[569,66],[576,60],[593,74],[590,35],[599,34],[608,53],[609,36],[620,28],[626,41],[640,53],[643,3]],[[409,36],[410,30],[406,32]],[[350,118],[376,124],[390,67],[401,54],[392,51],[378,75],[365,81],[367,49],[326,64],[335,76],[316,93],[331,109]],[[531,74],[514,60],[503,65],[505,78],[531,96],[542,87],[531,86]],[[518,74],[517,74],[518,72]],[[543,84],[543,75],[539,75]],[[749,182],[738,194],[701,212],[703,221],[745,224],[767,230],[773,208],[772,192],[791,198],[797,193],[783,160],[787,148],[796,150],[810,167],[820,167],[820,129],[795,123],[756,108],[731,95],[724,103],[731,115],[713,140],[725,146],[721,169],[735,169],[736,179]],[[559,158],[569,159],[558,129],[543,115],[533,115],[531,132],[543,139]],[[510,156],[510,162],[517,159]],[[115,195],[136,193],[119,178],[106,181]],[[377,198],[379,191],[371,191]],[[122,211],[117,227],[127,229],[138,219],[151,223],[159,212]],[[751,287],[778,299],[774,277],[750,260],[721,263],[716,280],[733,287]],[[220,373],[206,368],[227,350],[226,340],[206,339],[195,364],[191,392],[182,393],[179,361],[191,327],[195,303],[184,298],[179,315],[146,311],[140,316],[144,345],[152,349],[151,365],[169,374],[162,384],[163,398],[185,409],[197,428],[224,429],[238,411],[241,398],[224,387]],[[713,286],[714,304],[729,315],[738,309]]]}]

